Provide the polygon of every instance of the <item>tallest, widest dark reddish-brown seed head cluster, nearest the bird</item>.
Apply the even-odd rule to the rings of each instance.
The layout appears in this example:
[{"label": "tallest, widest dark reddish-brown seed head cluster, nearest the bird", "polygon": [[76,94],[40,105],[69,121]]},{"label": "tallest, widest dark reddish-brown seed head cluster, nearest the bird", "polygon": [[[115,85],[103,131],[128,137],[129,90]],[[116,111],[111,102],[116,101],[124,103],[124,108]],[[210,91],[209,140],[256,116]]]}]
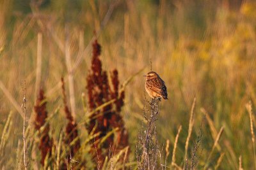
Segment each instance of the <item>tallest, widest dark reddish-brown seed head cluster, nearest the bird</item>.
[{"label": "tallest, widest dark reddish-brown seed head cluster, nearest the bird", "polygon": [[[100,136],[96,137],[95,141],[103,138],[109,131],[113,131],[116,127],[120,129],[118,130],[118,136],[109,136],[101,148],[99,148],[98,143],[93,142],[90,152],[92,153],[95,163],[102,166],[100,162],[103,162],[104,157],[108,156],[108,152],[105,152],[105,150],[109,150],[109,146],[115,144],[114,139],[119,138],[118,146],[115,147],[117,150],[115,150],[114,154],[128,145],[128,139],[126,136],[127,134],[124,134],[124,121],[122,120],[122,116],[119,115],[120,110],[124,105],[124,91],[119,92],[118,71],[115,69],[111,72],[111,79],[109,80],[107,72],[102,70],[102,63],[99,59],[99,55],[100,45],[95,41],[93,43],[92,67],[87,77],[86,86],[88,90],[90,110],[95,110],[95,108],[111,99],[116,99],[116,109],[113,108],[113,104],[108,104],[108,106],[105,106],[102,110],[93,113],[90,117],[90,123],[86,128],[89,132],[91,132],[93,128],[95,128],[94,133],[100,132]],[[110,83],[113,85],[112,89],[109,87]],[[97,118],[93,118],[98,114],[100,115]],[[123,140],[126,143],[123,142]]]}]

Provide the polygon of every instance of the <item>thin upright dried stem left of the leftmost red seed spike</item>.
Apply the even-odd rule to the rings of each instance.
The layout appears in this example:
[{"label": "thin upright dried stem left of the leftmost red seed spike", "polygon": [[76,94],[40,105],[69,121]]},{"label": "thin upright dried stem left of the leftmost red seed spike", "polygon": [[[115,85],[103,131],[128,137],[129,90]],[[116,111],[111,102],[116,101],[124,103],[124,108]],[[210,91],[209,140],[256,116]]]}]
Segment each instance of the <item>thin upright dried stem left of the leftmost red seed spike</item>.
[{"label": "thin upright dried stem left of the leftmost red seed spike", "polygon": [[27,148],[26,148],[26,81],[24,81],[24,98],[23,98],[23,109],[24,109],[24,119],[23,119],[23,162],[25,169],[28,169],[28,162],[27,162]]}]

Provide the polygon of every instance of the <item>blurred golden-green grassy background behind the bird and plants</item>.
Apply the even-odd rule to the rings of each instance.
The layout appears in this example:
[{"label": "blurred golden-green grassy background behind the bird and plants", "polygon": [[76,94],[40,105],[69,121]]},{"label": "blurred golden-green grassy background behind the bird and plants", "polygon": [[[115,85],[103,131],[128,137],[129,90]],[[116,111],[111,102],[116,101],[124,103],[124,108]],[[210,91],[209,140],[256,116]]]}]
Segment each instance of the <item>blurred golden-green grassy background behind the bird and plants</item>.
[{"label": "blurred golden-green grassy background behind the bird and plants", "polygon": [[[151,61],[152,70],[166,82],[170,96],[168,101],[161,102],[157,135],[161,146],[170,140],[171,153],[175,135],[182,125],[176,163],[184,164],[189,111],[196,97],[188,155],[203,121],[198,169],[205,164],[214,169],[219,161],[219,169],[238,169],[240,156],[244,169],[253,169],[252,129],[246,104],[252,101],[255,111],[255,16],[254,1],[0,0],[0,134],[10,111],[14,115],[8,143],[1,150],[8,153],[2,158],[2,167],[14,169],[17,164],[23,124],[6,91],[21,106],[26,80],[27,110],[29,115],[33,113],[37,41],[38,32],[42,32],[41,79],[48,114],[63,106],[61,89],[54,87],[60,84],[61,76],[67,78],[65,32],[68,32],[71,65],[75,67],[78,124],[86,114],[82,94],[86,96],[86,76],[92,56],[90,41],[96,34],[102,45],[102,67],[116,68],[121,84],[145,67],[143,73],[134,76],[127,85],[121,113],[129,132],[130,161],[136,160],[137,135],[143,124],[143,104],[147,97],[142,75],[150,71]],[[82,60],[76,64],[79,55]],[[205,111],[209,115],[206,119]],[[254,114],[252,120],[254,128]],[[60,138],[66,122],[62,110],[49,122],[54,127],[51,134],[55,141]],[[207,160],[221,127],[224,130],[218,146]],[[84,133],[84,129],[79,131],[81,138]],[[171,157],[172,154],[168,157],[169,167]]]}]

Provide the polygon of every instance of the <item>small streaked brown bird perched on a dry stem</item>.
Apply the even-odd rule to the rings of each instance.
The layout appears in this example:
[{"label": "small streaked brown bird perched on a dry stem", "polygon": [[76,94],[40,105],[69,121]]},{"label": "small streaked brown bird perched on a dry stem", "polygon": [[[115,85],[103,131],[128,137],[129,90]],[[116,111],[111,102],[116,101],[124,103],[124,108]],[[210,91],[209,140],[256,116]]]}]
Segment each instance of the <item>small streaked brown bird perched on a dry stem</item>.
[{"label": "small streaked brown bird perched on a dry stem", "polygon": [[145,89],[148,96],[150,96],[152,99],[159,99],[159,101],[161,101],[161,98],[164,100],[168,99],[164,80],[162,80],[156,72],[150,71],[144,75],[144,77],[147,78],[145,82]]}]

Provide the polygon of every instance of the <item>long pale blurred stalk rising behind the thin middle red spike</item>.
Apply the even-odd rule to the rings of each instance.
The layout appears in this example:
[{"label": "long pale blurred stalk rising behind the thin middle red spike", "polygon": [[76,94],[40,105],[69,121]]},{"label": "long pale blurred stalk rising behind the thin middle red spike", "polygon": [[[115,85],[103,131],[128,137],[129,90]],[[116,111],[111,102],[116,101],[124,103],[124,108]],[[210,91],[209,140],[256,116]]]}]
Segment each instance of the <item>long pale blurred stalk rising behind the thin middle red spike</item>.
[{"label": "long pale blurred stalk rising behind the thin middle red spike", "polygon": [[69,32],[68,28],[65,28],[66,32],[66,41],[65,41],[65,59],[66,59],[66,66],[68,71],[68,88],[69,88],[69,95],[70,95],[70,109],[71,114],[74,118],[76,118],[76,101],[75,101],[75,91],[74,91],[74,74],[72,71],[71,66],[71,59],[70,59],[70,39],[69,39]]}]

